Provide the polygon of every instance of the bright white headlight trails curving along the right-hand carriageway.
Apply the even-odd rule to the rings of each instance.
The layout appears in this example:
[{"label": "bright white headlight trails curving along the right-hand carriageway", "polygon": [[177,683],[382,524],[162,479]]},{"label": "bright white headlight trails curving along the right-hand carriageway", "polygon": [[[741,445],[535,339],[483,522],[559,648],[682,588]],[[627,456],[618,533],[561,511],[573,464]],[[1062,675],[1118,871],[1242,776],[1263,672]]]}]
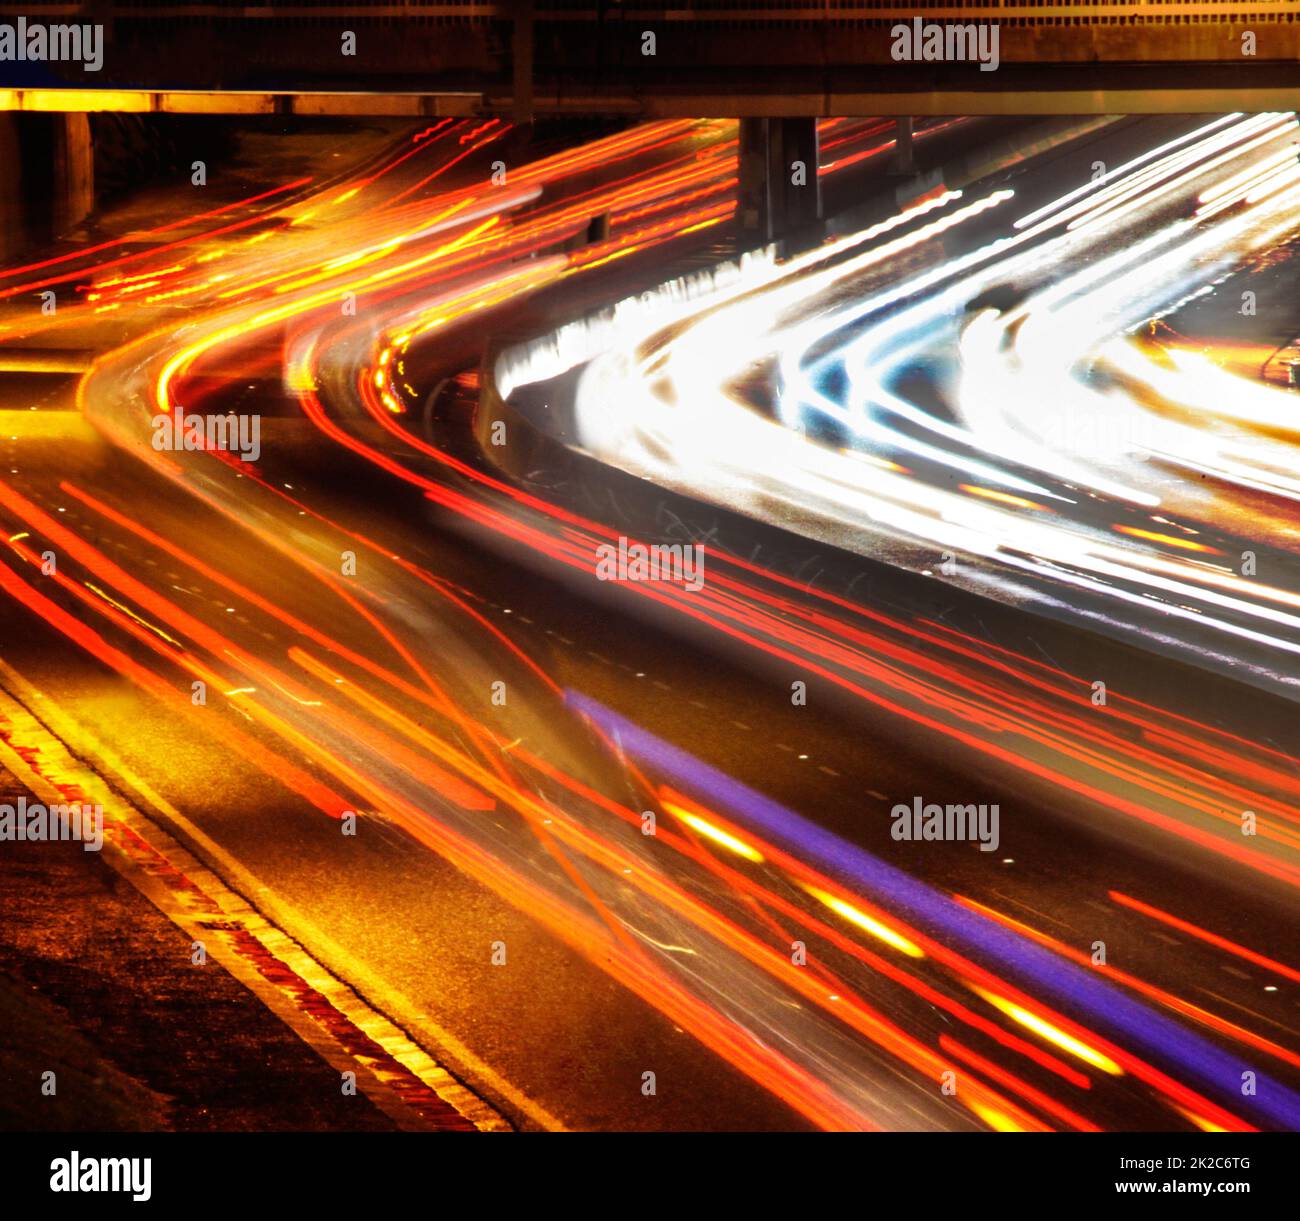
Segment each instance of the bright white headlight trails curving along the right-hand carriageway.
[{"label": "bright white headlight trails curving along the right-hand carriageway", "polygon": [[[1270,654],[1300,653],[1300,590],[1236,571],[1256,542],[1226,523],[1249,510],[1169,473],[1300,495],[1294,433],[1257,432],[1294,419],[1287,395],[1195,352],[1169,352],[1171,372],[1115,337],[1294,231],[1296,129],[1290,114],[1205,124],[888,287],[871,287],[876,267],[937,252],[942,234],[1005,208],[1009,192],[948,199],[901,235],[876,226],[858,235],[861,250],[841,242],[758,267],[686,303],[664,296],[586,359],[578,443],[863,554],[916,570],[952,554],[967,588],[1037,598],[1053,614],[1074,603],[1114,633],[1158,607],[1173,638],[1218,633],[1225,659],[1244,655],[1260,681],[1294,688],[1295,667]],[[1197,200],[1217,211],[1197,213]],[[868,287],[850,291],[858,282]],[[1018,304],[972,306],[1004,285]],[[751,337],[742,352],[729,342],[737,334]],[[736,390],[763,352],[777,368],[767,414]],[[517,397],[563,367],[503,361],[503,391]],[[1098,386],[1089,368],[1124,384]],[[1239,428],[1210,432],[1152,410],[1169,402]],[[1091,449],[1075,436],[1084,424]],[[1205,537],[1144,524],[1170,516]],[[1283,533],[1269,541],[1296,550]],[[1197,550],[1219,562],[1193,560]]]}]

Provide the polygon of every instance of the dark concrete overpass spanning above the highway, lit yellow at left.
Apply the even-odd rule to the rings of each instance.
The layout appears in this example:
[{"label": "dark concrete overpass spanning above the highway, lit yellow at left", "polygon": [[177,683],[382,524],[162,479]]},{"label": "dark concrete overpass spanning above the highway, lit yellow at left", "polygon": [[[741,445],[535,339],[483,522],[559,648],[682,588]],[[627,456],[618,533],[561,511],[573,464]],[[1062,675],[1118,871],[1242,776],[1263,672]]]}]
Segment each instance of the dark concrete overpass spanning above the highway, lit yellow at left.
[{"label": "dark concrete overpass spanning above the highway, lit yellow at left", "polygon": [[[1290,109],[1300,4],[0,4],[103,22],[99,72],[0,61],[5,109],[835,116]],[[848,14],[848,16],[846,16]],[[900,62],[913,18],[996,27],[985,57]],[[916,53],[922,53],[919,49]],[[985,70],[989,69],[989,70]],[[57,98],[60,88],[73,90]],[[83,91],[104,91],[104,99]],[[51,92],[53,91],[53,92]],[[230,95],[231,91],[234,94]],[[382,96],[387,95],[387,96]]]}]

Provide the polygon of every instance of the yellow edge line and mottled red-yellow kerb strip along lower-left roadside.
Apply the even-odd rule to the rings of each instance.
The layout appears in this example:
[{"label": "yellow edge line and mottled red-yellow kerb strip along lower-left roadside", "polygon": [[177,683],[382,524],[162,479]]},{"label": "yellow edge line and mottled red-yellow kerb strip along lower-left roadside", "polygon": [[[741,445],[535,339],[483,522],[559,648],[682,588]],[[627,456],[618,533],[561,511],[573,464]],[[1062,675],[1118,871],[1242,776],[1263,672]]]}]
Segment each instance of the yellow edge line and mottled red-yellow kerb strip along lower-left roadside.
[{"label": "yellow edge line and mottled red-yellow kerb strip along lower-left roadside", "polygon": [[[104,860],[136,887],[191,940],[208,952],[235,979],[256,995],[277,1017],[339,1071],[358,1074],[358,1087],[399,1127],[428,1131],[472,1126],[480,1131],[508,1131],[511,1125],[488,1101],[462,1084],[406,1031],[372,1008],[341,978],[311,954],[304,943],[328,947],[339,970],[358,979],[370,995],[403,1016],[416,1030],[482,1081],[488,1090],[542,1127],[562,1129],[559,1120],[528,1099],[478,1060],[454,1035],[441,1030],[417,1006],[380,983],[361,964],[321,934],[311,921],[277,900],[247,867],[191,823],[103,742],[64,713],[48,696],[0,661],[0,723],[22,728],[25,745],[38,746],[38,758],[52,761],[58,775],[75,778],[84,800],[100,804],[104,815]],[[38,716],[32,709],[39,707]],[[91,746],[96,762],[118,781],[109,787],[64,746],[64,739]],[[0,762],[42,801],[64,802],[57,784],[0,739]],[[268,915],[228,887],[156,821],[138,809],[140,800],[209,854],[235,884]],[[108,811],[112,810],[112,817]],[[272,923],[274,921],[274,923]],[[295,938],[283,930],[294,928]],[[270,982],[268,974],[277,982]],[[406,1014],[411,1014],[407,1021]]]}]

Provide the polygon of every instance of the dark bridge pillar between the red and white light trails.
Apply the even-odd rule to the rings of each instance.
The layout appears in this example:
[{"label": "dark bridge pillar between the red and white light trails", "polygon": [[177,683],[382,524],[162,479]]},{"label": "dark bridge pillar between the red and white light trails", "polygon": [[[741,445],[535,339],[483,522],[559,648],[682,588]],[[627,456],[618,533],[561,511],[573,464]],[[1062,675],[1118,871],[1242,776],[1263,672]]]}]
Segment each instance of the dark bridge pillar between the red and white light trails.
[{"label": "dark bridge pillar between the red and white light trails", "polygon": [[742,250],[815,233],[822,220],[815,118],[742,118],[736,218]]}]

